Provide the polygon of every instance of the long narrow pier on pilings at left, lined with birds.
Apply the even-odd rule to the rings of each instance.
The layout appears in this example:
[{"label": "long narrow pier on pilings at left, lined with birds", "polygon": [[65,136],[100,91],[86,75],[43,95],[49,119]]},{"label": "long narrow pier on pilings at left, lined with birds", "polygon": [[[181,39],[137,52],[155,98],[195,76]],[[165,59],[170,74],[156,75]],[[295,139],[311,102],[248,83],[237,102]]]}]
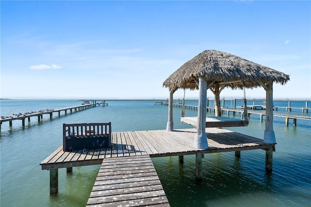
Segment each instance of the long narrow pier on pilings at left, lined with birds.
[{"label": "long narrow pier on pilings at left, lined with birds", "polygon": [[38,122],[40,122],[43,119],[44,114],[49,114],[50,118],[52,119],[53,113],[58,113],[58,116],[60,116],[61,111],[64,111],[65,114],[67,114],[67,111],[80,111],[84,110],[90,107],[96,106],[95,104],[83,104],[83,105],[78,105],[78,106],[71,106],[71,107],[66,107],[66,108],[58,108],[58,109],[46,109],[46,110],[41,110],[41,111],[35,111],[35,112],[27,112],[27,113],[19,113],[19,114],[13,114],[12,116],[7,116],[7,117],[1,117],[0,118],[0,135],[1,135],[1,125],[3,122],[8,121],[9,126],[12,126],[12,121],[13,120],[21,120],[22,121],[22,126],[25,126],[25,120],[28,119],[28,122],[30,121],[31,117],[38,117]]}]

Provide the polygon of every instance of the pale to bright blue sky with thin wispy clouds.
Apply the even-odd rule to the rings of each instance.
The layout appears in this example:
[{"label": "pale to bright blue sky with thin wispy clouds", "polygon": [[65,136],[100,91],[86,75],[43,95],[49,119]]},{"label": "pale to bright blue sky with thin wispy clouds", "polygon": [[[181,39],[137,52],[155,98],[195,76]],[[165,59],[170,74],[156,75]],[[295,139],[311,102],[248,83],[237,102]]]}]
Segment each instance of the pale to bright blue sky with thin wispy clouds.
[{"label": "pale to bright blue sky with thin wispy clouds", "polygon": [[[1,98],[167,98],[205,50],[282,71],[274,98],[311,99],[311,1],[0,1]],[[212,92],[207,96],[213,98]],[[178,90],[174,98],[182,98]],[[186,91],[197,98],[198,91]],[[225,89],[221,98],[242,98]],[[247,98],[264,98],[263,88]]]}]

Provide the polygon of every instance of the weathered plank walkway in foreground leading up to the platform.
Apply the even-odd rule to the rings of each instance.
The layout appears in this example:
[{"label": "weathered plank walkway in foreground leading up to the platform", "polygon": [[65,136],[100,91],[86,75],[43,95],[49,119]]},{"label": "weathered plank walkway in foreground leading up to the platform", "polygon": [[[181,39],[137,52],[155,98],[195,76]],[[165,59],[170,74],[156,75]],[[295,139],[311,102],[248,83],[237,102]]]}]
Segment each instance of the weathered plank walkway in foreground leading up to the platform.
[{"label": "weathered plank walkway in foreground leading up to the platform", "polygon": [[149,155],[104,159],[86,206],[169,207]]}]

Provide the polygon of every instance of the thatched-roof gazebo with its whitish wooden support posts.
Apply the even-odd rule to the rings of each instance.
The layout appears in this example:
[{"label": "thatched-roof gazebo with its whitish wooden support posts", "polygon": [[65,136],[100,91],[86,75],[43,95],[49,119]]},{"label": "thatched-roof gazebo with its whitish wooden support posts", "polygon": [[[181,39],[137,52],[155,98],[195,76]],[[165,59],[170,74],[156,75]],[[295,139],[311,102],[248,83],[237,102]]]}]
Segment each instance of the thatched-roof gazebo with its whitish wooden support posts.
[{"label": "thatched-roof gazebo with its whitish wooden support posts", "polygon": [[215,115],[220,116],[219,94],[225,88],[243,89],[263,87],[266,90],[266,129],[264,141],[276,143],[273,131],[273,83],[281,85],[290,80],[289,75],[233,54],[207,50],[201,52],[173,72],[163,86],[170,90],[167,130],[173,131],[173,93],[179,89],[199,90],[197,134],[194,146],[207,149],[205,133],[207,89],[215,95]]}]

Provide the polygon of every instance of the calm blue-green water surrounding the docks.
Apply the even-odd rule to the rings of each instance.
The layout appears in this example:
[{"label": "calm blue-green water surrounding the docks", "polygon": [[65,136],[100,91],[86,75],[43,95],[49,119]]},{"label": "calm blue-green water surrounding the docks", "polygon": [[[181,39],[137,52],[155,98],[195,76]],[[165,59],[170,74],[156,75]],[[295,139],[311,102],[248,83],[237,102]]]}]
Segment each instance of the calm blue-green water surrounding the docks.
[{"label": "calm blue-green water surrounding the docks", "polygon": [[[73,168],[72,173],[59,169],[59,193],[49,195],[49,171],[42,171],[39,163],[62,144],[62,124],[77,122],[112,122],[113,131],[165,129],[167,106],[154,105],[153,101],[109,101],[108,107],[94,107],[83,111],[43,115],[1,125],[0,137],[0,206],[85,206],[100,166]],[[76,100],[1,100],[1,116],[56,109],[80,105]],[[186,104],[197,104],[188,101]],[[225,106],[230,107],[226,101]],[[242,103],[238,103],[241,104]],[[237,105],[238,105],[237,104]],[[252,103],[250,103],[252,104]],[[262,104],[262,103],[255,103]],[[288,106],[288,102],[276,106]],[[305,107],[305,102],[292,102],[291,106]],[[309,105],[311,105],[309,103]],[[310,107],[310,106],[309,106]],[[174,128],[191,126],[179,121],[181,109],[174,108]],[[301,110],[278,113],[301,113]],[[186,110],[186,116],[196,116],[196,111]],[[208,115],[208,114],[207,114]],[[239,118],[237,115],[236,118]],[[230,130],[262,138],[264,122],[251,115],[247,127]],[[285,126],[284,118],[274,118],[276,152],[273,155],[273,172],[266,173],[265,151],[205,155],[203,180],[195,180],[195,156],[153,158],[155,169],[172,207],[213,206],[311,206],[311,121],[297,120]]]}]

